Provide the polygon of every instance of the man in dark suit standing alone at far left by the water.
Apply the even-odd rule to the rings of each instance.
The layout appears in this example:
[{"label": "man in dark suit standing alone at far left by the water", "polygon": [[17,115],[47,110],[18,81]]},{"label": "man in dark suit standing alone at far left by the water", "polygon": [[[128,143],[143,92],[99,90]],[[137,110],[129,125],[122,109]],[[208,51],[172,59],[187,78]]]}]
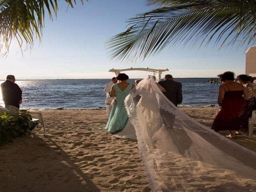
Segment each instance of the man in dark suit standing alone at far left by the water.
[{"label": "man in dark suit standing alone at far left by the water", "polygon": [[14,82],[15,77],[7,75],[6,81],[1,84],[3,102],[5,106],[12,105],[19,108],[19,104],[22,103],[22,90]]}]

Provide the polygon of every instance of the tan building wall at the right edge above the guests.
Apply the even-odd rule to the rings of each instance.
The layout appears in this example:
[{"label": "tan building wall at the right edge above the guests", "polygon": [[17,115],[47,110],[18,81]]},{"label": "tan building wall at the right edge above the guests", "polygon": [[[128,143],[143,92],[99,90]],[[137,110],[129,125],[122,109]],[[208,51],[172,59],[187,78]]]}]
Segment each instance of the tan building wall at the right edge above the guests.
[{"label": "tan building wall at the right edge above the guests", "polygon": [[246,52],[245,73],[256,77],[256,46],[250,47]]}]

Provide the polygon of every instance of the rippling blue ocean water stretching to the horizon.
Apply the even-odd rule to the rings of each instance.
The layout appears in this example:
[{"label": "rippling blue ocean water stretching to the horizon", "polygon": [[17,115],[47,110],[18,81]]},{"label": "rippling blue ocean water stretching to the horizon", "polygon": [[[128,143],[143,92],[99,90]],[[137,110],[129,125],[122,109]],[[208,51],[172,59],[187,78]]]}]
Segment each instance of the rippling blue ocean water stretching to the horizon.
[{"label": "rippling blue ocean water stretching to the horizon", "polygon": [[[220,83],[210,84],[207,79],[210,78],[175,79],[182,83],[181,106],[217,105]],[[134,83],[134,80],[129,79],[128,82]],[[96,109],[106,107],[103,89],[109,82],[109,79],[56,79],[22,80],[15,83],[23,92],[22,109]],[[1,93],[0,105],[3,105]]]}]

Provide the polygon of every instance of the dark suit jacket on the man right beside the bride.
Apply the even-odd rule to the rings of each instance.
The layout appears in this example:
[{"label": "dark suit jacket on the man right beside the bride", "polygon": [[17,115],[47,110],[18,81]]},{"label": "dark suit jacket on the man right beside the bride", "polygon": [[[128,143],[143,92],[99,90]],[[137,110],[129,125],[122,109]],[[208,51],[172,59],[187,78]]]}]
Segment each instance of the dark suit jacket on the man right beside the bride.
[{"label": "dark suit jacket on the man right beside the bride", "polygon": [[182,84],[173,80],[165,80],[158,82],[163,88],[166,89],[166,93],[163,93],[175,106],[182,102]]}]

